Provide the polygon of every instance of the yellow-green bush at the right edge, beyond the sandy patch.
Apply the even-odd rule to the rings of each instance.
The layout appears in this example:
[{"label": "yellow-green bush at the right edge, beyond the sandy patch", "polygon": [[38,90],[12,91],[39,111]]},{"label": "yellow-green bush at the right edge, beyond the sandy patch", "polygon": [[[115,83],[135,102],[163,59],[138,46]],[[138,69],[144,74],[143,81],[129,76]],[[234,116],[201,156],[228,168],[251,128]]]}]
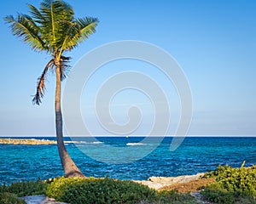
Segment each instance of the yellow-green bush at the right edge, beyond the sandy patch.
[{"label": "yellow-green bush at the right edge, beyond the sandy patch", "polygon": [[215,178],[216,182],[201,191],[208,201],[217,203],[256,203],[256,166],[240,168],[218,166],[215,171],[205,174],[205,178]]}]

